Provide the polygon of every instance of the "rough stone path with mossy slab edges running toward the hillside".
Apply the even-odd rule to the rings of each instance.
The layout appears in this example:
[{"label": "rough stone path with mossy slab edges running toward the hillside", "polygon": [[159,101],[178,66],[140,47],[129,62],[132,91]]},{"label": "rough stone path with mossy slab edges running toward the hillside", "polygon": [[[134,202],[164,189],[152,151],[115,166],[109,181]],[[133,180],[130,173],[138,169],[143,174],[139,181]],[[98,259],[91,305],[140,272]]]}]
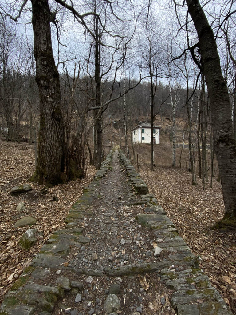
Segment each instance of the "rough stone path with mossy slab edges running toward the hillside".
[{"label": "rough stone path with mossy slab edges running toward the hillside", "polygon": [[120,151],[108,155],[66,222],[0,314],[232,314]]}]

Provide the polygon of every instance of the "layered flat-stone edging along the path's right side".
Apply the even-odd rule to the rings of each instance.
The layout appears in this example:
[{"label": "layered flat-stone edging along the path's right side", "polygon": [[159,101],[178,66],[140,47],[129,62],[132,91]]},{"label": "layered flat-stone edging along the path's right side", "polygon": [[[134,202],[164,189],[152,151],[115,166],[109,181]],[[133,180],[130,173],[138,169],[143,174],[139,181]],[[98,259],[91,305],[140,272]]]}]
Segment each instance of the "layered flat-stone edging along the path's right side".
[{"label": "layered flat-stone edging along the path's right side", "polygon": [[[170,254],[167,261],[162,262],[166,263],[167,267],[163,265],[156,270],[160,271],[160,280],[164,282],[165,286],[174,291],[171,304],[177,314],[232,315],[219,292],[211,286],[210,279],[203,270],[199,269],[198,259],[192,254],[183,238],[179,236],[173,222],[157,204],[154,195],[148,194],[147,185],[140,179],[140,175],[136,173],[131,162],[121,150],[119,150],[119,155],[135,191],[143,194],[141,199],[146,201],[146,212],[149,212],[148,208],[155,213],[155,215],[139,214],[136,216],[136,220],[143,226],[152,229],[157,240],[160,241],[158,247]],[[203,303],[203,300],[206,302]]]}]

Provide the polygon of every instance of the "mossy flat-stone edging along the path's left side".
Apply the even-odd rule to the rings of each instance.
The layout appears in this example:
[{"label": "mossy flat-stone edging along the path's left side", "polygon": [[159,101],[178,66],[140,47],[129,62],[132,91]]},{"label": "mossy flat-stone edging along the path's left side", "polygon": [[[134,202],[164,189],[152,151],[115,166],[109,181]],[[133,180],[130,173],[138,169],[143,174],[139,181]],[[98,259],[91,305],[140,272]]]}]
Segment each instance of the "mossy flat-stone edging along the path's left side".
[{"label": "mossy flat-stone edging along the path's left side", "polygon": [[108,153],[106,159],[101,163],[101,168],[95,174],[94,180],[89,184],[89,187],[83,189],[83,195],[70,209],[65,219],[66,228],[53,233],[48,243],[43,245],[41,251],[33,258],[31,266],[25,268],[22,276],[4,297],[0,307],[0,315],[34,315],[36,313],[50,315],[58,299],[64,296],[66,289],[61,285],[49,287],[34,283],[34,279],[43,279],[45,275],[50,273],[48,269],[64,269],[100,276],[96,270],[75,270],[63,264],[66,262],[64,257],[70,252],[70,245],[80,247],[81,243],[89,243],[90,241],[89,238],[81,235],[83,229],[76,226],[83,221],[85,216],[93,215],[90,208],[92,208],[93,200],[99,198],[93,193],[99,185],[99,180],[111,169],[112,153],[113,150]]}]

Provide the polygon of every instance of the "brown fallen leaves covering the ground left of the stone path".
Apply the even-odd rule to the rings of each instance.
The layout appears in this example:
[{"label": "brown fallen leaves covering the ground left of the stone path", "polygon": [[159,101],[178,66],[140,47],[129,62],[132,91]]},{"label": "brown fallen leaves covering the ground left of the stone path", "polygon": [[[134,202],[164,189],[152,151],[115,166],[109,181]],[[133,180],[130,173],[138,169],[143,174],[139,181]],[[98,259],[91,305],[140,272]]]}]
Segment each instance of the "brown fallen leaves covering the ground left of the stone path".
[{"label": "brown fallen leaves covering the ground left of the stone path", "polygon": [[[22,149],[22,147],[27,149]],[[29,145],[10,143],[0,140],[0,302],[10,285],[21,275],[46,240],[55,230],[65,226],[65,217],[71,205],[82,195],[84,186],[93,180],[95,169],[88,166],[87,177],[57,185],[42,193],[43,185],[33,184],[28,193],[12,196],[11,187],[26,183],[34,172],[34,148]],[[58,201],[53,201],[57,196]],[[22,214],[16,212],[19,202],[25,203]],[[34,228],[38,230],[38,242],[29,250],[19,248],[18,242],[29,226],[14,229],[14,223],[22,216],[31,215],[37,219]]]}]

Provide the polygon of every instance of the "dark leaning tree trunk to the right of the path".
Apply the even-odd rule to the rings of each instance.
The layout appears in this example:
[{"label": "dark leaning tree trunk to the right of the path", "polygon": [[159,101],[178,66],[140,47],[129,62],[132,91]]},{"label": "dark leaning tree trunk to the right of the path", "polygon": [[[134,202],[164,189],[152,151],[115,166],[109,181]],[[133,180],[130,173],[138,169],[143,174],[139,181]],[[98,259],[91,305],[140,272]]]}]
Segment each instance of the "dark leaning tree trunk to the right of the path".
[{"label": "dark leaning tree trunk to the right of the path", "polygon": [[230,102],[223,79],[214,33],[198,0],[186,0],[198,33],[201,65],[210,98],[216,157],[222,183],[225,212],[236,217],[236,146]]}]

